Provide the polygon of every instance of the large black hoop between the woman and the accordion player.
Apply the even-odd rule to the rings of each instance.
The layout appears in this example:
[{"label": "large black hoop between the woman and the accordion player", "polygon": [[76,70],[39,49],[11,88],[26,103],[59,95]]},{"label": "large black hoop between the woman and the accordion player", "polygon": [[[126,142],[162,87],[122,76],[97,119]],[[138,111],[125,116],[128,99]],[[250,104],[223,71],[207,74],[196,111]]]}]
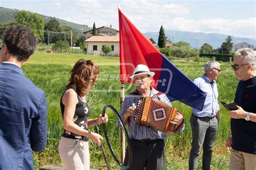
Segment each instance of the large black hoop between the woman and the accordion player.
[{"label": "large black hoop between the woman and the accordion player", "polygon": [[126,142],[127,142],[127,147],[128,147],[128,153],[129,153],[129,161],[128,161],[128,164],[127,166],[124,166],[120,163],[120,161],[118,160],[116,154],[114,153],[113,151],[113,148],[110,144],[110,141],[109,141],[109,137],[107,137],[107,130],[106,130],[106,125],[103,123],[102,126],[103,126],[103,131],[104,131],[104,135],[105,135],[105,138],[106,138],[106,142],[107,142],[107,146],[109,146],[109,149],[110,149],[110,152],[114,158],[114,161],[117,162],[117,164],[122,168],[122,169],[127,169],[129,168],[131,165],[132,165],[132,147],[131,147],[131,142],[130,142],[130,139],[129,139],[129,136],[128,136],[128,133],[126,131],[126,128],[125,128],[125,125],[123,123],[123,120],[122,118],[120,117],[120,115],[118,114],[117,110],[111,106],[111,105],[106,105],[103,107],[102,109],[102,116],[104,117],[105,116],[105,112],[106,112],[106,109],[107,107],[109,107],[113,112],[114,114],[116,114],[117,116],[117,119],[119,120],[120,122],[120,125],[122,127],[122,130],[124,131],[124,134],[125,134],[125,138],[126,138]]}]

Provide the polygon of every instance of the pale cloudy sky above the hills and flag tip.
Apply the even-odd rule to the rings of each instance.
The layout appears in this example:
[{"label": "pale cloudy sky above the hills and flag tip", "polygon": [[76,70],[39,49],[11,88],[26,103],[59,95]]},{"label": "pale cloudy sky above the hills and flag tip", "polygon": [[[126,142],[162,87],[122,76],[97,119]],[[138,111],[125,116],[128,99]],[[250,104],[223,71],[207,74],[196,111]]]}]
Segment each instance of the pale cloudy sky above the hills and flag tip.
[{"label": "pale cloudy sky above the hills and flag tip", "polygon": [[28,10],[92,28],[118,29],[118,5],[142,32],[165,30],[223,33],[256,39],[256,2],[244,0],[0,0],[4,8]]}]

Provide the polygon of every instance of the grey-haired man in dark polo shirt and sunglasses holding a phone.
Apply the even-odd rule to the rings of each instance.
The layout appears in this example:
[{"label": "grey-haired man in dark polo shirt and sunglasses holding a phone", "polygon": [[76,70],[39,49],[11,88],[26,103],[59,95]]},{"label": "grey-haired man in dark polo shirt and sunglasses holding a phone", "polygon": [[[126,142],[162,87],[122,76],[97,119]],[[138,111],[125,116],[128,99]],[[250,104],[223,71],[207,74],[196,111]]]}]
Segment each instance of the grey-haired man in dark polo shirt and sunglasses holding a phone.
[{"label": "grey-haired man in dark polo shirt and sunglasses holding a phone", "polygon": [[232,69],[240,80],[235,92],[238,110],[231,116],[231,135],[226,140],[231,149],[230,169],[256,169],[256,51],[235,52]]}]

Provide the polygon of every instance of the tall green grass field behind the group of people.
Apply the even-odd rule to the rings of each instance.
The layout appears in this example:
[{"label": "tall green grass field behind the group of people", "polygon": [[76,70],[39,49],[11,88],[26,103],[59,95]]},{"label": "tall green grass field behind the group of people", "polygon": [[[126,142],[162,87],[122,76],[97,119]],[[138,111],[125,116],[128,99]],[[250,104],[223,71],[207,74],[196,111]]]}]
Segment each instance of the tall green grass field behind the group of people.
[{"label": "tall green grass field behind the group of people", "polygon": [[[59,100],[64,91],[64,85],[68,83],[69,71],[80,58],[92,59],[100,66],[99,80],[93,92],[87,96],[87,102],[92,111],[91,118],[97,117],[105,105],[112,105],[120,111],[118,57],[36,52],[29,62],[23,65],[26,77],[45,91],[48,100],[48,144],[43,152],[33,153],[36,169],[48,164],[62,165],[58,155],[58,143],[63,133]],[[171,61],[190,79],[200,77],[204,73],[203,67],[205,63],[203,62],[172,59]],[[230,63],[221,63],[221,76],[217,80],[219,103],[220,101],[225,101],[226,103],[233,101],[237,83],[238,80],[234,76]],[[134,89],[134,86],[126,83],[125,89],[125,94],[127,94]],[[166,140],[166,169],[187,169],[191,144],[189,119],[192,108],[179,101],[172,102],[172,105],[184,113],[186,128],[183,133],[172,134]],[[111,112],[107,112],[107,114],[110,118],[107,124],[109,138],[114,150],[119,154],[119,128],[116,125],[114,114]],[[93,131],[93,128],[91,130]],[[103,135],[102,132],[100,134]],[[228,169],[230,153],[225,149],[225,140],[229,134],[230,117],[224,107],[220,105],[220,124],[213,151],[212,169]],[[104,146],[112,168],[120,169],[111,157],[106,142],[104,142]],[[91,168],[104,169],[105,163],[102,152],[92,141],[90,142],[90,155]],[[201,168],[201,157],[199,159],[199,168]]]}]

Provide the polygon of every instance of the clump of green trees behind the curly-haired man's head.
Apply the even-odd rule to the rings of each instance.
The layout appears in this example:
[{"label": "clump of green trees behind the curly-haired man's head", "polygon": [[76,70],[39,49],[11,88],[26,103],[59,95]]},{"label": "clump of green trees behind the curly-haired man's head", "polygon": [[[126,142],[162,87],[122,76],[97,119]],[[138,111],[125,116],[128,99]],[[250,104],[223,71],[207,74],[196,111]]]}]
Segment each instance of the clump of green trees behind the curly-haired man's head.
[{"label": "clump of green trees behind the curly-haired man's head", "polygon": [[84,48],[84,35],[78,36],[77,31],[70,26],[60,26],[60,23],[55,18],[50,19],[48,22],[44,22],[43,17],[39,14],[25,10],[15,12],[14,22],[0,23],[0,27],[2,28],[0,29],[0,36],[2,37],[6,26],[17,24],[28,26],[36,35],[38,43],[45,43],[51,46],[51,44],[56,44],[58,41],[66,41],[69,46],[82,46]]}]

